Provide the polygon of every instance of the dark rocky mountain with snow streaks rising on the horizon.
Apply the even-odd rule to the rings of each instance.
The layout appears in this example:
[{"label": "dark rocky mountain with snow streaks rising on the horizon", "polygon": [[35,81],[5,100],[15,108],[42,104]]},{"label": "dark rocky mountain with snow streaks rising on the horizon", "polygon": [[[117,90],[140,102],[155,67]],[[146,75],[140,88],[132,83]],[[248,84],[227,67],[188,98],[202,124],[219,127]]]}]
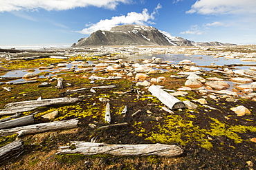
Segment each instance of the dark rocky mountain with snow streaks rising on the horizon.
[{"label": "dark rocky mountain with snow streaks rising on the horizon", "polygon": [[71,47],[102,45],[176,45],[176,46],[212,46],[225,45],[219,42],[194,43],[178,36],[167,36],[152,26],[118,25],[111,30],[98,30],[88,38],[82,38]]}]

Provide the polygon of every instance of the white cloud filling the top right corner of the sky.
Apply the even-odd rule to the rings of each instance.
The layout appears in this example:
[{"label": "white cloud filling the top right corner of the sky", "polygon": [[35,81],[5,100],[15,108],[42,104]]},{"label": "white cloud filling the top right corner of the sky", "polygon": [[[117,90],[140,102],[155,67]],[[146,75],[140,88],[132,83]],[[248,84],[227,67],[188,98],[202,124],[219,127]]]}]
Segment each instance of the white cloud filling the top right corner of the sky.
[{"label": "white cloud filling the top right corner of the sky", "polygon": [[186,13],[256,14],[255,0],[198,0]]}]

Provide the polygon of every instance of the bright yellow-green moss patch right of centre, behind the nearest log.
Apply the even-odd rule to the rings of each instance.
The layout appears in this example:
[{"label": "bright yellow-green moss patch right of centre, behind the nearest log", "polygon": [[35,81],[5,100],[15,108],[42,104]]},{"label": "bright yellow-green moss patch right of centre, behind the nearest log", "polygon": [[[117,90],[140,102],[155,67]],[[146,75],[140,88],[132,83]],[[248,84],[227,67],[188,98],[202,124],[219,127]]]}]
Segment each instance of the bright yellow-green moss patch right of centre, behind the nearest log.
[{"label": "bright yellow-green moss patch right of centre, behind the nearest log", "polygon": [[138,136],[145,136],[146,140],[152,142],[160,142],[166,144],[188,145],[190,142],[196,142],[199,146],[210,149],[213,147],[211,139],[208,136],[226,136],[235,143],[241,143],[244,140],[239,136],[239,133],[247,131],[255,132],[256,127],[245,125],[228,125],[216,118],[208,118],[210,128],[201,128],[194,124],[193,119],[196,116],[185,114],[171,114],[164,118],[163,123],[151,122],[152,130],[145,131],[142,122],[135,122],[134,127],[137,131],[133,131]]}]

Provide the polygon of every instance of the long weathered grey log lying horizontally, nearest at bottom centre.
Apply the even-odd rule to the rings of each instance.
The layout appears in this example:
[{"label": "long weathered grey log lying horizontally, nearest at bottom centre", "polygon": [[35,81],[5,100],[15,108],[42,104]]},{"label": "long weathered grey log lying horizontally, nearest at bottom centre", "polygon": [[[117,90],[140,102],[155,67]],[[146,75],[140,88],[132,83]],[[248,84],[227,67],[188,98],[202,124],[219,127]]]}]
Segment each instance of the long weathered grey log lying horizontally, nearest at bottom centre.
[{"label": "long weathered grey log lying horizontally, nearest at bottom centre", "polygon": [[59,150],[58,154],[80,153],[84,155],[109,154],[113,156],[179,156],[183,149],[176,145],[147,144],[147,145],[108,145],[95,142],[74,142],[76,149]]}]

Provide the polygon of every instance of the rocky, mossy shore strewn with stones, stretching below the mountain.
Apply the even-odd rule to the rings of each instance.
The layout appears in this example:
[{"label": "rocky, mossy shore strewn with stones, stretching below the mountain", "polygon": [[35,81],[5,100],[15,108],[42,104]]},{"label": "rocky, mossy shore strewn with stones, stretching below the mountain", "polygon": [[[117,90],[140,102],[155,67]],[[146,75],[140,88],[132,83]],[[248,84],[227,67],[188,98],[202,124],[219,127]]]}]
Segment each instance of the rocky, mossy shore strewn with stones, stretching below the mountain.
[{"label": "rocky, mossy shore strewn with stones, stretching below the mountain", "polygon": [[[191,60],[174,63],[156,54],[184,54]],[[149,57],[127,59],[133,55]],[[213,56],[216,61],[223,57],[227,62],[197,65],[193,55]],[[16,118],[32,115],[30,126],[79,120],[72,129],[32,134],[28,133],[28,125],[3,127],[1,147],[15,140],[24,141],[23,151],[2,162],[3,169],[256,168],[256,64],[252,63],[256,61],[256,45],[0,49],[0,58],[1,75],[26,70],[21,77],[1,76],[0,123],[10,121],[14,114],[19,114]],[[230,59],[250,63],[237,65]],[[42,105],[44,99],[57,98],[75,98],[75,102]],[[21,101],[40,105],[21,110],[17,107]],[[167,104],[177,101],[181,107]],[[22,127],[26,131],[4,135]],[[76,149],[73,141],[115,146],[161,143],[176,145],[182,154],[62,154],[62,149]]]}]

